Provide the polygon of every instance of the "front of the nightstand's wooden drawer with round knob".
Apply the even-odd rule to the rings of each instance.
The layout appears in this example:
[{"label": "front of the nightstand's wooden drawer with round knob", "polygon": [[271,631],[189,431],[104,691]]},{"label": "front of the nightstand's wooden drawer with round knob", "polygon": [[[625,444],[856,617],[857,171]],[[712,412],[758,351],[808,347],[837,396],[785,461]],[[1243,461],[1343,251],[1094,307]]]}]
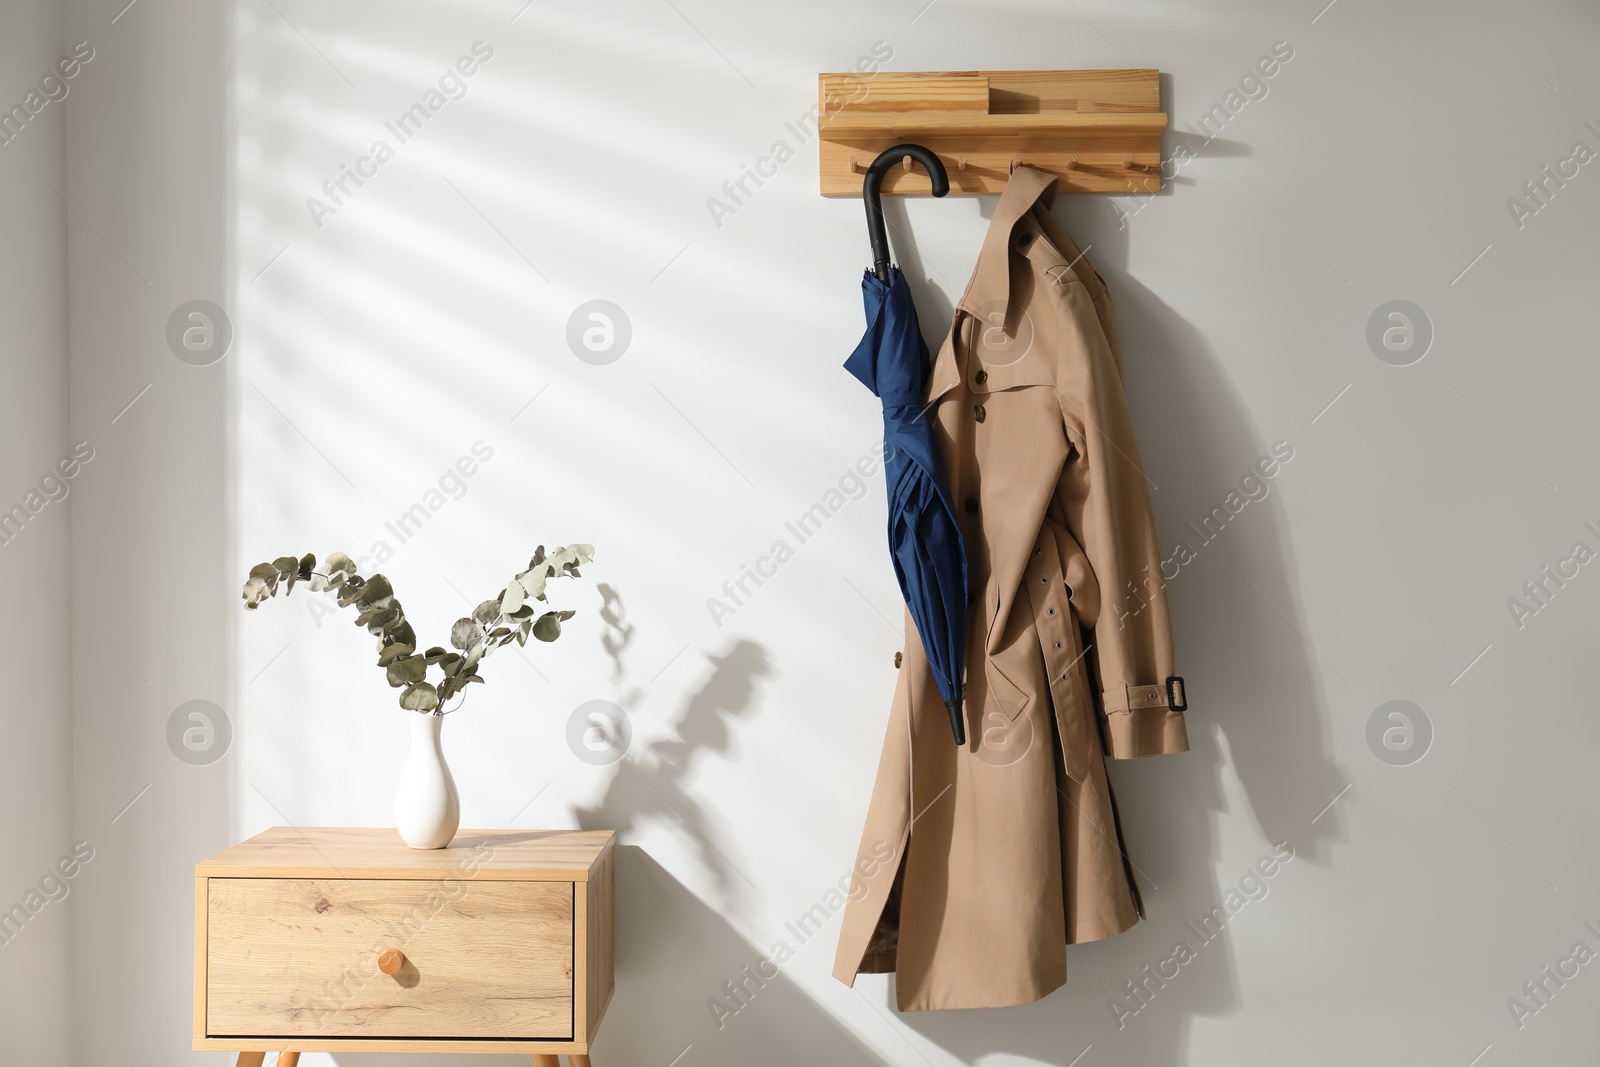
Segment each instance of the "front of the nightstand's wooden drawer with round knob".
[{"label": "front of the nightstand's wooden drawer with round knob", "polygon": [[208,1037],[573,1037],[571,881],[211,878],[206,897]]}]

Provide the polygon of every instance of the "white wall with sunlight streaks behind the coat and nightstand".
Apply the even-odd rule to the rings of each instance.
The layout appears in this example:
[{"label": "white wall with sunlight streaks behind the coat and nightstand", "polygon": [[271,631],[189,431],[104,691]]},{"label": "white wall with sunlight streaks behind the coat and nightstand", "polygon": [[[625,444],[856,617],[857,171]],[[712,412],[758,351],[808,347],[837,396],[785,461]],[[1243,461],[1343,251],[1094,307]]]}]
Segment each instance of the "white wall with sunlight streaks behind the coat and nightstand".
[{"label": "white wall with sunlight streaks behind the coat and nightstand", "polygon": [[[99,48],[67,134],[99,230],[69,221],[72,434],[106,440],[74,496],[72,825],[98,849],[75,1062],[190,1059],[197,859],[274,824],[389,821],[405,734],[370,638],[299,593],[237,601],[251,563],[379,541],[424,640],[536,544],[598,545],[558,593],[568,635],[493,659],[446,725],[467,825],[622,832],[597,1062],[1589,1062],[1594,968],[1522,1029],[1506,1001],[1600,949],[1600,579],[1584,566],[1520,629],[1507,598],[1600,547],[1600,176],[1523,227],[1507,198],[1600,149],[1592,6],[518,8],[69,5],[64,40]],[[464,98],[398,146],[384,123],[478,40]],[[1186,128],[1280,40],[1264,99],[1208,142]],[[1150,920],[1006,1011],[898,1016],[886,979],[829,977],[837,921],[786,931],[851,861],[877,763],[899,646],[882,483],[720,627],[706,609],[878,430],[838,366],[859,202],[816,194],[814,142],[720,227],[707,198],[794,144],[814,75],[875,42],[898,70],[1160,67],[1166,152],[1198,154],[1142,206],[1056,208],[1117,301],[1162,541],[1197,549],[1171,584],[1194,752],[1114,768]],[[318,227],[307,198],[379,138],[394,158]],[[992,206],[890,208],[934,338]],[[197,298],[237,331],[205,368],[163,338]],[[634,331],[606,366],[565,339],[595,298]],[[1416,365],[1368,349],[1390,299],[1434,325]],[[477,442],[493,456],[461,499],[400,544],[386,522]],[[1186,525],[1275,442],[1294,459],[1270,496],[1200,545]],[[565,741],[597,697],[634,726],[611,768]],[[165,741],[190,699],[235,729],[211,766]],[[1432,721],[1410,766],[1368,745],[1390,699]],[[64,830],[26,829],[40,856]],[[1294,862],[1200,945],[1186,921],[1277,841]],[[784,979],[718,1030],[707,998],[778,939]],[[1197,958],[1118,1029],[1112,998],[1179,939]]]}]

